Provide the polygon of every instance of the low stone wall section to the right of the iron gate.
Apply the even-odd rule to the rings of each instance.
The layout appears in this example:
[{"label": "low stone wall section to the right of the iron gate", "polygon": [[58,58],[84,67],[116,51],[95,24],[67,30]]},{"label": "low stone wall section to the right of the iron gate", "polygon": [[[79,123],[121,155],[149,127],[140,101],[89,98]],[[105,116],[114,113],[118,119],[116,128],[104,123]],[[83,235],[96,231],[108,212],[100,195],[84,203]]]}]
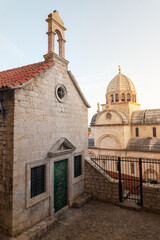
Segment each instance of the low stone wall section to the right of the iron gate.
[{"label": "low stone wall section to the right of the iron gate", "polygon": [[160,185],[143,184],[143,207],[160,214]]}]

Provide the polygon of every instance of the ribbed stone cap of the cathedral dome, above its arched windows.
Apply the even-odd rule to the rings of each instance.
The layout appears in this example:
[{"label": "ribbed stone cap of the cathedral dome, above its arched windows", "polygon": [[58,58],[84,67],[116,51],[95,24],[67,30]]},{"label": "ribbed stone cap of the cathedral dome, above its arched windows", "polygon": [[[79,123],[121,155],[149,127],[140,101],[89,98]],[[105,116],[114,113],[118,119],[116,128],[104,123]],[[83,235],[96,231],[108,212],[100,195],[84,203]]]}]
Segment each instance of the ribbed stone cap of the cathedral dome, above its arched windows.
[{"label": "ribbed stone cap of the cathedral dome, above its arched windows", "polygon": [[132,81],[125,75],[117,74],[108,84],[107,93],[128,91],[136,92],[135,86]]}]

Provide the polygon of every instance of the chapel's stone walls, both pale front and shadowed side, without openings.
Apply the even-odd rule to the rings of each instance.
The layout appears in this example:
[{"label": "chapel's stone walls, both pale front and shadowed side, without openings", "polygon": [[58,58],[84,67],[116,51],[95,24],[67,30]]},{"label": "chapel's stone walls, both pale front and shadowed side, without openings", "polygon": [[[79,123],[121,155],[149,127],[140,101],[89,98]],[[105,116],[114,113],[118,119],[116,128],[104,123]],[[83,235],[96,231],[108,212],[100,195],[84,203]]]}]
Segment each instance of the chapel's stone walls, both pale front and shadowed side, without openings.
[{"label": "chapel's stone walls, both pale front and shadowed side, without openings", "polygon": [[[58,84],[67,90],[64,102],[56,98]],[[31,207],[26,205],[27,164],[47,159],[61,137],[76,146],[74,153],[85,157],[88,110],[70,79],[67,64],[56,55],[53,67],[23,88],[2,92],[1,98],[6,117],[0,115],[0,227],[16,235],[50,215],[49,197]],[[74,155],[70,159],[69,205],[74,196],[84,191],[83,159],[82,176],[76,181],[73,159]],[[49,194],[53,201],[53,190]]]}]

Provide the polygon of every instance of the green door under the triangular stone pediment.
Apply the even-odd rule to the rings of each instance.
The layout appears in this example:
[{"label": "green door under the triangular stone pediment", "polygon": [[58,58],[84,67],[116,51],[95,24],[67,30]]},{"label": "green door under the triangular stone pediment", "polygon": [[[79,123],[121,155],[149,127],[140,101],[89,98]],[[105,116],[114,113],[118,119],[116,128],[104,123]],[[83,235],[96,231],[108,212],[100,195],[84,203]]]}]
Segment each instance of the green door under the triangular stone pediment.
[{"label": "green door under the triangular stone pediment", "polygon": [[54,209],[67,205],[67,159],[54,163]]}]

